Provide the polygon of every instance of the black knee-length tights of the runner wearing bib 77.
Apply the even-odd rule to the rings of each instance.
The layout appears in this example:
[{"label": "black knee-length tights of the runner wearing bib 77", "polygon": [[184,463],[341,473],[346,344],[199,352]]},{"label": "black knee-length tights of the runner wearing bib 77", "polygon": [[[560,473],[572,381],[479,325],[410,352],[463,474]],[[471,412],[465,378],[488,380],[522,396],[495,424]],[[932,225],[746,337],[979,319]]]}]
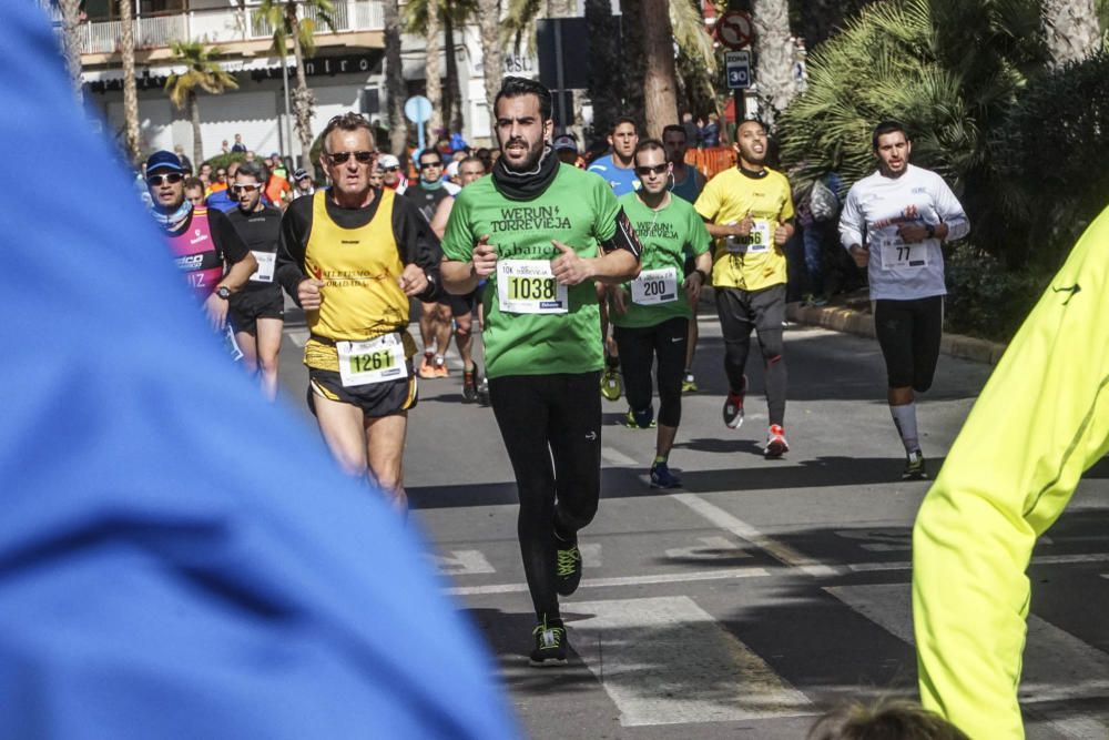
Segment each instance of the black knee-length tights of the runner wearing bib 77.
[{"label": "black knee-length tights of the runner wearing bib 77", "polygon": [[874,331],[886,359],[891,388],[932,387],[944,336],[944,296],[874,302]]}]

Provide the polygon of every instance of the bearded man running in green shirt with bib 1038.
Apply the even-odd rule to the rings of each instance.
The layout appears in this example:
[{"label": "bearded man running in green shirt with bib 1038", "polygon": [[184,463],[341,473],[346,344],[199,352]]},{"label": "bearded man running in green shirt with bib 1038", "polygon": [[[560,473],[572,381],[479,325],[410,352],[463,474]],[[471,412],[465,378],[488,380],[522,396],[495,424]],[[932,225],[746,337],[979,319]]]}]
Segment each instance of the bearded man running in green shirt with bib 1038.
[{"label": "bearded man running in green shirt with bib 1038", "polygon": [[601,336],[594,282],[639,274],[640,245],[608,184],[561,164],[551,94],[505,78],[494,104],[503,154],[462,190],[447,222],[444,285],[488,278],[489,399],[519,489],[518,536],[538,625],[531,665],[564,666],[559,595],[581,579],[578,530],[601,486]]}]

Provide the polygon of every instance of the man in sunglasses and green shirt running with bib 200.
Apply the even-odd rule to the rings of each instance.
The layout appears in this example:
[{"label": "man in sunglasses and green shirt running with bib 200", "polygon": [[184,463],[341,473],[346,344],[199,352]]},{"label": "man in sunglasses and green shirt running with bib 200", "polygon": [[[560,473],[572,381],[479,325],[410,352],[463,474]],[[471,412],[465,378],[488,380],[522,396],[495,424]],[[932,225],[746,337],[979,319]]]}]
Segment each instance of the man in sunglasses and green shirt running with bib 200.
[{"label": "man in sunglasses and green shirt running with bib 200", "polygon": [[[668,460],[682,416],[682,376],[692,306],[712,270],[712,237],[693,205],[671,195],[672,164],[662,142],[648,139],[634,154],[635,175],[642,186],[620,197],[643,244],[642,272],[623,286],[609,288],[613,334],[623,357],[624,391],[628,393],[629,427],[649,428],[654,423],[651,404],[651,365],[658,358],[659,433],[651,486],[682,485]],[[695,268],[686,276],[685,255],[694,255]]]}]

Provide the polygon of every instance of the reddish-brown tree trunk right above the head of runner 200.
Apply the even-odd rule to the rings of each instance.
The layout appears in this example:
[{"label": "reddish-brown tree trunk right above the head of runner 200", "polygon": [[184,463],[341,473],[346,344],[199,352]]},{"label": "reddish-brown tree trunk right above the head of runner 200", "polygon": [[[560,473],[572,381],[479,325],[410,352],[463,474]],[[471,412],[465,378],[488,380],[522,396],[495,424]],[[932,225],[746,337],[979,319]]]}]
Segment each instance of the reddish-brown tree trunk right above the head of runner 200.
[{"label": "reddish-brown tree trunk right above the head of runner 200", "polygon": [[678,123],[678,73],[674,70],[674,36],[670,28],[670,0],[642,0],[640,32],[643,36],[643,112],[647,135],[662,139],[662,128]]}]

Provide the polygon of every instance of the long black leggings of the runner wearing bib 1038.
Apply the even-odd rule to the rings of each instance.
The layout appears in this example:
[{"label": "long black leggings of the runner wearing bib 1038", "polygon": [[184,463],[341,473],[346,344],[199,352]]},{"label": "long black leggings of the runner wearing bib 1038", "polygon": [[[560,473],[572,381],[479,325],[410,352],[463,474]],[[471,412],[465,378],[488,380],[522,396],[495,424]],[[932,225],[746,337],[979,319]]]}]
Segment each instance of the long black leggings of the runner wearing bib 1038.
[{"label": "long black leggings of the runner wearing bib 1038", "polygon": [[554,528],[573,535],[597,514],[600,382],[600,371],[489,378],[489,401],[520,498],[523,574],[540,621],[559,618]]}]

